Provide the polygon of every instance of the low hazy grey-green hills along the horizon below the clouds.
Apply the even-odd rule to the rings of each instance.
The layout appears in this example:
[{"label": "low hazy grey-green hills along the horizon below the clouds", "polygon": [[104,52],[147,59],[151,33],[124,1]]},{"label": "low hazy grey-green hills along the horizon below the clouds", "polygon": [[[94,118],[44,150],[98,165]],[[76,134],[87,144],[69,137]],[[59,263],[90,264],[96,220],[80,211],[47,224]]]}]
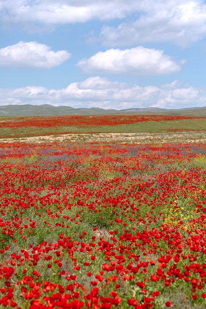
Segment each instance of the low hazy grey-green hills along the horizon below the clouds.
[{"label": "low hazy grey-green hills along the horizon below the clouds", "polygon": [[69,106],[54,107],[43,105],[5,105],[0,106],[0,116],[60,116],[60,115],[179,115],[179,116],[204,116],[206,107],[193,107],[185,109],[167,110],[160,108],[104,110],[100,108],[73,108]]}]

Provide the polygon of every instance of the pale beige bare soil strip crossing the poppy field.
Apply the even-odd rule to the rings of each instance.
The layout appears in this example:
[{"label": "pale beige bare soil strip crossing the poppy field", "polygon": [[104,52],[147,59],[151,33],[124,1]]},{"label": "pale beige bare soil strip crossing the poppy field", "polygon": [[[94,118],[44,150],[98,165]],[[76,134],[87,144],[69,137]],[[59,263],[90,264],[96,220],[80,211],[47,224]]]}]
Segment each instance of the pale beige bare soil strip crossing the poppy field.
[{"label": "pale beige bare soil strip crossing the poppy field", "polygon": [[137,144],[161,143],[205,143],[206,131],[187,131],[181,133],[90,133],[60,134],[25,138],[0,139],[0,143],[52,143],[52,142],[121,142]]}]

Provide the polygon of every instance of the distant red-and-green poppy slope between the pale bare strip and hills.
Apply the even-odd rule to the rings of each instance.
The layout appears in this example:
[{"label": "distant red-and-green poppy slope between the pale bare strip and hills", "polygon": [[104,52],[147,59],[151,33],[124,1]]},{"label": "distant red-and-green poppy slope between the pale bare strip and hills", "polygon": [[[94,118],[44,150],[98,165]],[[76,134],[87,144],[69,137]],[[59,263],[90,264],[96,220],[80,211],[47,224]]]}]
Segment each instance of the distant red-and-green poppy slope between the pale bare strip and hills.
[{"label": "distant red-and-green poppy slope between the pale bare strip and hills", "polygon": [[1,117],[0,138],[59,134],[205,130],[206,117],[163,115]]}]

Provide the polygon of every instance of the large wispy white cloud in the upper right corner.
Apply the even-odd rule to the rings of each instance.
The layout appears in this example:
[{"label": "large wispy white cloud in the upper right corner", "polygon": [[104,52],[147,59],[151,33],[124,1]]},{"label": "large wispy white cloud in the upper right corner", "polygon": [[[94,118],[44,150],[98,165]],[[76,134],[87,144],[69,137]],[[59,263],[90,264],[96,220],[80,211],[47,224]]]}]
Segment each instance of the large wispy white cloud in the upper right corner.
[{"label": "large wispy white cloud in the upper right corner", "polygon": [[118,27],[104,26],[105,45],[132,45],[171,41],[188,46],[206,36],[206,2],[200,0],[148,0],[137,9],[138,18]]}]

